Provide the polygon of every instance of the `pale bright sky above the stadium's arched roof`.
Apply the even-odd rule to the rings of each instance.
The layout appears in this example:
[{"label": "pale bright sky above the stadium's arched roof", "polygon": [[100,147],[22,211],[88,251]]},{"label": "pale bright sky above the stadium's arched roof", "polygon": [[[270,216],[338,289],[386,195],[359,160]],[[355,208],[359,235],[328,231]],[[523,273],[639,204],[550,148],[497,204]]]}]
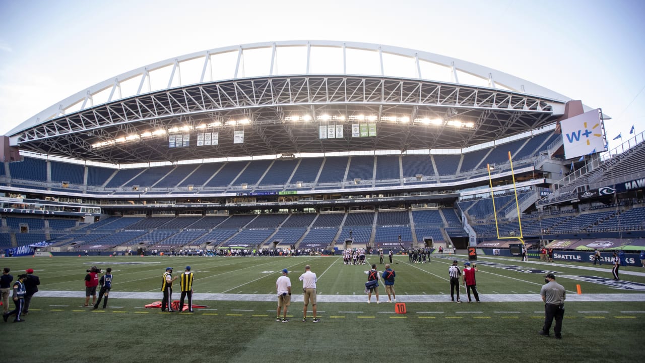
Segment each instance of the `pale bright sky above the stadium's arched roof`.
[{"label": "pale bright sky above the stadium's arched roof", "polygon": [[645,130],[644,14],[640,0],[0,0],[0,134],[163,59],[332,40],[455,57],[581,99],[611,116],[611,149]]}]

